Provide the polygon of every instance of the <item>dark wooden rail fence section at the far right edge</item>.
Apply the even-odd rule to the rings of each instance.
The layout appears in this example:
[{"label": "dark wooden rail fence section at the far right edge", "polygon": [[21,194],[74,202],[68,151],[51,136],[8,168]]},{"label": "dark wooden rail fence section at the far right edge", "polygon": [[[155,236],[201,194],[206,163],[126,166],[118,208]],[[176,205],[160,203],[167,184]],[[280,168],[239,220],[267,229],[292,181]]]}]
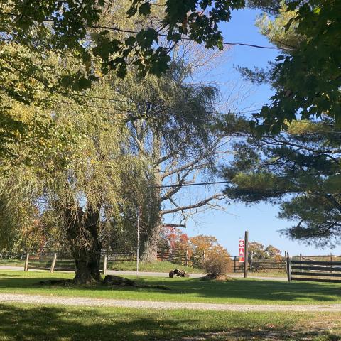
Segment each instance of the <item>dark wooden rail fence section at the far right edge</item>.
[{"label": "dark wooden rail fence section at the far right edge", "polygon": [[341,283],[341,256],[287,256],[288,281]]}]

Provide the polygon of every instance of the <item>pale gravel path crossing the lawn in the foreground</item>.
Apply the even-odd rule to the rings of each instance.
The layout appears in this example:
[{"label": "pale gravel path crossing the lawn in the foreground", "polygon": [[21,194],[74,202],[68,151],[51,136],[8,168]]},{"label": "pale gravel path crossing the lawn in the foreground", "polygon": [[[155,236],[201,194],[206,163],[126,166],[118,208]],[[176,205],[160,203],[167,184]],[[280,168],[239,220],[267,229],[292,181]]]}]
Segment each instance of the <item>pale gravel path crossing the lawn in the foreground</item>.
[{"label": "pale gravel path crossing the lawn in the foreground", "polygon": [[341,311],[341,304],[330,305],[237,305],[215,303],[182,303],[156,301],[129,301],[100,298],[23,295],[1,293],[0,303],[30,303],[38,305],[80,305],[85,307],[124,307],[139,309],[193,309],[215,311]]}]

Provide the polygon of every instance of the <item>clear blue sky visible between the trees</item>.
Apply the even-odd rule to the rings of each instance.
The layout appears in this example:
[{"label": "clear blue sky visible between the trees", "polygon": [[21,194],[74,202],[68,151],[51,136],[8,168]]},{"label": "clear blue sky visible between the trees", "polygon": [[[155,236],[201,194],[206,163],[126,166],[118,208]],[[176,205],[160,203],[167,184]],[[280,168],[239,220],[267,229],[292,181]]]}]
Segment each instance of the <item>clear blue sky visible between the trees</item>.
[{"label": "clear blue sky visible between the trees", "polygon": [[[221,26],[224,33],[224,40],[236,43],[253,43],[257,45],[269,46],[268,40],[258,32],[254,26],[256,16],[259,11],[251,9],[234,11],[232,21]],[[242,83],[239,73],[234,70],[233,65],[244,67],[266,67],[269,60],[274,60],[278,52],[276,50],[265,50],[257,48],[247,48],[235,46],[229,50],[229,58],[224,65],[217,70],[215,79],[217,82],[224,83],[225,80],[237,80],[247,97],[238,105],[239,109],[246,107],[259,108],[271,97],[271,89],[267,86],[249,87],[247,83]],[[229,92],[222,85],[222,93]],[[193,189],[194,191],[194,189]],[[200,189],[202,194],[205,188]],[[194,195],[194,194],[193,194]],[[291,222],[276,218],[278,207],[260,204],[246,207],[244,204],[234,204],[227,206],[226,212],[205,212],[195,217],[197,224],[189,220],[185,232],[189,236],[195,234],[210,234],[217,237],[220,244],[227,248],[232,255],[237,255],[238,239],[244,235],[245,229],[249,230],[249,240],[261,242],[262,244],[272,244],[284,253],[289,254],[341,254],[341,247],[335,249],[315,249],[304,244],[293,242],[279,234],[278,229],[291,226]]]}]

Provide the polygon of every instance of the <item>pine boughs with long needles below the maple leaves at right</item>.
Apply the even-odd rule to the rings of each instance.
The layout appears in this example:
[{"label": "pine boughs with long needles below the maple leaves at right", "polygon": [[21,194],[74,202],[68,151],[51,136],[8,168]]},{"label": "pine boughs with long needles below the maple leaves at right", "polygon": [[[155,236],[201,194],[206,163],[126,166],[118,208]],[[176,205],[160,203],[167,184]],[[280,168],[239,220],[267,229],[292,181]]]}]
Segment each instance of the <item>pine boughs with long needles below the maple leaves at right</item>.
[{"label": "pine boughs with long needles below the maple leaves at right", "polygon": [[340,244],[341,131],[325,117],[286,124],[287,131],[272,135],[256,135],[243,126],[234,133],[239,142],[222,171],[229,181],[224,194],[246,204],[281,205],[279,217],[294,224],[282,231],[288,237]]}]

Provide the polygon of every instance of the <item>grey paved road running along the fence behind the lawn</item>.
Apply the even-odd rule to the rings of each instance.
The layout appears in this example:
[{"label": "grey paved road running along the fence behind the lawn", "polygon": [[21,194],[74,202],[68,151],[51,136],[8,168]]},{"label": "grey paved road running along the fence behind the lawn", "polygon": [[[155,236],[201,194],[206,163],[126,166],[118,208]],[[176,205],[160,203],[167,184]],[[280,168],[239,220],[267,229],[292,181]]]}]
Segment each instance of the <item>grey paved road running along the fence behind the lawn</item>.
[{"label": "grey paved road running along the fence behind the lawn", "polygon": [[[0,270],[13,270],[13,271],[23,271],[22,266],[0,266]],[[36,269],[28,269],[29,271],[45,271],[45,270],[36,270]],[[119,276],[135,276],[136,271],[114,271],[114,270],[108,270],[107,274],[109,275],[119,275]],[[139,271],[139,276],[152,276],[152,277],[168,277],[167,273],[163,272],[145,272],[145,271]],[[200,278],[202,276],[205,276],[204,274],[190,274],[190,278]],[[232,278],[242,278],[242,274],[230,274],[229,275]],[[287,279],[285,277],[271,277],[271,276],[251,276],[250,278],[255,279],[264,279],[268,281],[286,281]]]}]

